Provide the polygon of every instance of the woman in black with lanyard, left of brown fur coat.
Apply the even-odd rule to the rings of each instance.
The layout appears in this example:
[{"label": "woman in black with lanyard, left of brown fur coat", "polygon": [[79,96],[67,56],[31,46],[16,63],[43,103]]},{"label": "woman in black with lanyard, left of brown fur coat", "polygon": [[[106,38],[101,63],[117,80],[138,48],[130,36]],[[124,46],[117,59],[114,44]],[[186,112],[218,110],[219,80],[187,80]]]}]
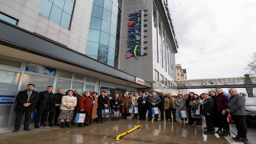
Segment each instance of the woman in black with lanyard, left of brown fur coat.
[{"label": "woman in black with lanyard, left of brown fur coat", "polygon": [[[119,113],[120,113],[121,105],[122,105],[122,100],[120,99],[119,94],[115,94],[115,97],[113,97],[110,100],[111,111],[114,110],[116,112],[117,110],[119,110]],[[119,117],[111,116],[111,120],[119,120]]]}]

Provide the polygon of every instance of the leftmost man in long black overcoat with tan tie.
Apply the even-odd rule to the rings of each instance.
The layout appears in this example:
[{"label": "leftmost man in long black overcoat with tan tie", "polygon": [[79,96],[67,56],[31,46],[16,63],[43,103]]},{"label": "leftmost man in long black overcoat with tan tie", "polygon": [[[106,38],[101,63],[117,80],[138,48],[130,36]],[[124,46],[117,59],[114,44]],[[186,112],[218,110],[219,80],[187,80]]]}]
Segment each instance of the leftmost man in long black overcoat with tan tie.
[{"label": "leftmost man in long black overcoat with tan tie", "polygon": [[13,132],[17,132],[20,128],[20,122],[25,113],[24,120],[24,130],[30,131],[29,122],[31,119],[32,111],[37,106],[37,101],[39,100],[39,94],[36,91],[33,91],[35,88],[34,84],[28,84],[27,90],[20,91],[16,97],[17,105],[14,109],[16,111],[16,119],[15,119],[15,129]]}]

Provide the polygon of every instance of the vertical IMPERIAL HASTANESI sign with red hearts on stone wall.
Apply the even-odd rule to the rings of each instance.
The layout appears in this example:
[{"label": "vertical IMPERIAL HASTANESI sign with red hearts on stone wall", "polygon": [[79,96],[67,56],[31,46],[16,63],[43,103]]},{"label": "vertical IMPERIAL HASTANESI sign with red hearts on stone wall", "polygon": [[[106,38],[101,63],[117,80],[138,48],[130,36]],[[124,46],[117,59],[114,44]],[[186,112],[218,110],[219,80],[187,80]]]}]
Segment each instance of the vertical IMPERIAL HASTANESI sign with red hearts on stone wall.
[{"label": "vertical IMPERIAL HASTANESI sign with red hearts on stone wall", "polygon": [[[144,25],[144,21],[147,21],[146,19],[144,19],[144,16],[147,15],[144,15],[144,11],[146,10],[136,10],[136,13],[129,14],[129,17],[132,18],[130,18],[130,21],[128,22],[129,28],[127,48],[129,48],[129,50],[127,50],[126,58],[130,58],[132,56],[137,58],[137,56],[147,55],[147,53],[144,53],[143,51],[143,49],[147,49],[147,47],[143,48],[144,43],[147,43],[147,41],[144,41],[144,37],[147,37],[144,36],[144,32],[147,32],[147,30],[144,30],[144,27],[147,26]],[[142,50],[141,47],[143,48]]]}]

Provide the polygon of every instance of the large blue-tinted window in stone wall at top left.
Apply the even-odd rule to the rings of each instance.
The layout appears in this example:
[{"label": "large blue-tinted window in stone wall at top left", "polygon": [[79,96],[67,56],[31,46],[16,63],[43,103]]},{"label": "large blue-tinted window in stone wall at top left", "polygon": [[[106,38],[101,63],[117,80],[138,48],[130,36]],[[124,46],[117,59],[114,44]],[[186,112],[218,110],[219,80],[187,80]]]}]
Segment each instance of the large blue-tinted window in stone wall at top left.
[{"label": "large blue-tinted window in stone wall at top left", "polygon": [[69,29],[74,0],[43,0],[40,14]]}]

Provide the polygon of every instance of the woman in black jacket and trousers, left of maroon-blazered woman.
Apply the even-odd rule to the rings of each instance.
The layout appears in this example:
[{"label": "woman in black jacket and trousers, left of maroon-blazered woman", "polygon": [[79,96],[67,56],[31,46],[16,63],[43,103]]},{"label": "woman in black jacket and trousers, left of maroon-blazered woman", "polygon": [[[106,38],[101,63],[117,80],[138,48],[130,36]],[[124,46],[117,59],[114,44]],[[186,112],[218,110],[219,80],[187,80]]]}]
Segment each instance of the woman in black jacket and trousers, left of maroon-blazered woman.
[{"label": "woman in black jacket and trousers, left of maroon-blazered woman", "polygon": [[202,103],[202,114],[205,116],[207,130],[204,134],[214,134],[215,129],[212,124],[212,119],[214,116],[214,102],[210,99],[210,95],[204,93],[205,101]]}]

